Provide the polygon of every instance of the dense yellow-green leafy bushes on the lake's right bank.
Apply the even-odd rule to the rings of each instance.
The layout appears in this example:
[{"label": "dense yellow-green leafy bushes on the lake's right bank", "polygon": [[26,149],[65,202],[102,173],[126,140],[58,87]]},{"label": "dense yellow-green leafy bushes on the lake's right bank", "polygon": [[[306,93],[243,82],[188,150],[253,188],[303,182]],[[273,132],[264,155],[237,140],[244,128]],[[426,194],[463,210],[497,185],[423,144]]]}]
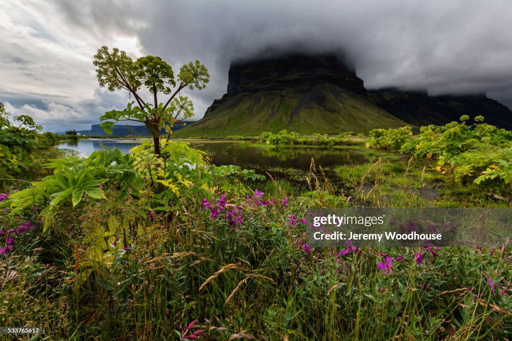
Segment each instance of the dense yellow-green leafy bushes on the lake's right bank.
[{"label": "dense yellow-green leafy bushes on the lake's right bank", "polygon": [[415,136],[410,127],[376,129],[370,132],[366,145],[436,159],[436,170],[453,174],[457,181],[474,181],[492,191],[511,191],[512,132],[482,123],[482,116],[475,118],[475,124],[466,125],[466,116],[461,122],[422,126]]}]

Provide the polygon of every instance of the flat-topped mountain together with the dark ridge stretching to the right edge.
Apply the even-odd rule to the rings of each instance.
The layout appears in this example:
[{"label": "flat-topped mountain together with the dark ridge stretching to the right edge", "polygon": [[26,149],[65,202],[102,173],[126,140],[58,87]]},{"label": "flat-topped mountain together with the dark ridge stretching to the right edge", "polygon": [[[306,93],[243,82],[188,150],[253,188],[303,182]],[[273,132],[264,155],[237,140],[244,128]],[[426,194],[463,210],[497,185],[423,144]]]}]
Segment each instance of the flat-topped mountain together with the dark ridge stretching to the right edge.
[{"label": "flat-topped mountain together with the dark ridge stretching to the right edge", "polygon": [[174,136],[366,133],[375,128],[444,124],[462,115],[512,129],[512,112],[485,95],[367,91],[355,68],[334,54],[288,54],[231,63],[227,92],[204,117]]}]

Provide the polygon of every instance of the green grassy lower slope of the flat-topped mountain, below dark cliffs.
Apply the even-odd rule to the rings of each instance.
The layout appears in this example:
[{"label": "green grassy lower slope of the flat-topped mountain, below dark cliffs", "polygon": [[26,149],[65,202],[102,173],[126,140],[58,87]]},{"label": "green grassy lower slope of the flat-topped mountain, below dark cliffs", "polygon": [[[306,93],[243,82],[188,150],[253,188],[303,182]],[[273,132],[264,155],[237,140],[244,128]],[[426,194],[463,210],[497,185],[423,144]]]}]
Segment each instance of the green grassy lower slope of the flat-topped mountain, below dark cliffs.
[{"label": "green grassy lower slope of the flat-topped mountain, below dark cliffs", "polygon": [[302,93],[262,91],[224,96],[202,120],[173,133],[173,137],[250,136],[283,129],[302,134],[362,133],[406,124],[365,96],[323,84]]}]

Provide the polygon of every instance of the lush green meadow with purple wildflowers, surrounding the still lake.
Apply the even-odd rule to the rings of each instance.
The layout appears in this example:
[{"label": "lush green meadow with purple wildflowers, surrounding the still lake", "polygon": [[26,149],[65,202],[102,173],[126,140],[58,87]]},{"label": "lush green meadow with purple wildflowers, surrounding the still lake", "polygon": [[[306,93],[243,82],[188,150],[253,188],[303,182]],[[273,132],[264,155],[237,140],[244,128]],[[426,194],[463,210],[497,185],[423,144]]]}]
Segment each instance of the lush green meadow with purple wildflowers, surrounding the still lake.
[{"label": "lush green meadow with purple wildflowers, surrounding the still lake", "polygon": [[310,208],[510,207],[512,132],[467,120],[263,133],[275,148],[364,145],[370,162],[334,170],[342,186],[312,160],[304,188],[186,142],[77,158],[4,127],[0,325],[41,327],[33,339],[512,339],[508,241],[306,243]]}]

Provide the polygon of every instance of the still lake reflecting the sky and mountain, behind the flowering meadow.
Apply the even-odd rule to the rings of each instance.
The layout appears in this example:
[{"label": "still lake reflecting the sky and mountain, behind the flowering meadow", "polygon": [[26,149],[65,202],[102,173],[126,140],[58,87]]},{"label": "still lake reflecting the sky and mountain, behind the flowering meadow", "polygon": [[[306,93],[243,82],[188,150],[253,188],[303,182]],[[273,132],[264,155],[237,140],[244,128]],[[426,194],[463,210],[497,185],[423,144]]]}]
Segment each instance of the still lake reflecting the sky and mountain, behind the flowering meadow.
[{"label": "still lake reflecting the sky and mountain, behind the flowering meadow", "polygon": [[[305,147],[305,146],[266,146],[244,141],[183,139],[210,155],[216,165],[234,164],[242,168],[254,169],[259,174],[268,172],[277,179],[293,182],[305,181],[309,172],[311,159],[321,165],[331,182],[336,183],[334,172],[337,165],[362,164],[368,162],[364,152],[357,148]],[[75,150],[80,156],[87,157],[102,146],[117,147],[127,153],[141,143],[141,139],[78,139],[57,145],[58,148]]]}]

